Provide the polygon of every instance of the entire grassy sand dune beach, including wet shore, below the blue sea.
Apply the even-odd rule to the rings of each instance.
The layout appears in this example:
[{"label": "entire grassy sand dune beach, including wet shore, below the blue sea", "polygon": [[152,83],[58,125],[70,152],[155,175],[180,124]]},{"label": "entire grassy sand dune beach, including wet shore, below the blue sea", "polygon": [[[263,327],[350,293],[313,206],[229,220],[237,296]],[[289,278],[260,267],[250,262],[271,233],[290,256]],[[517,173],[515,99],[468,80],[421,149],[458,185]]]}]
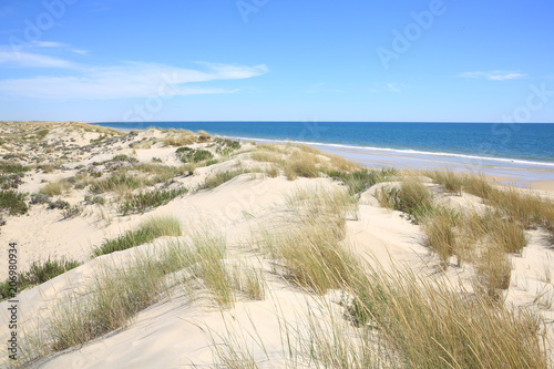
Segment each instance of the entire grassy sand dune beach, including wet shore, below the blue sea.
[{"label": "entire grassy sand dune beach, including wet shore, below the blue sea", "polygon": [[[458,311],[453,326],[441,324],[466,322],[482,357],[503,362],[489,341],[506,337],[522,349],[510,360],[552,366],[548,163],[235,141],[208,130],[0,124],[2,198],[12,196],[1,247],[14,245],[20,274],[45,260],[78,265],[4,296],[0,340],[18,338],[18,360],[3,346],[2,366],[394,367],[418,356],[399,332],[414,339],[427,327],[411,326],[410,336],[400,322],[387,326],[396,316],[386,306],[406,299],[402,286],[421,291],[413,304],[429,316]],[[409,186],[416,205],[402,203]],[[1,255],[7,280],[13,263]],[[102,300],[102,291],[113,295]],[[530,334],[511,335],[506,321]],[[479,325],[490,330],[478,339]],[[474,349],[452,345],[434,362]]]}]

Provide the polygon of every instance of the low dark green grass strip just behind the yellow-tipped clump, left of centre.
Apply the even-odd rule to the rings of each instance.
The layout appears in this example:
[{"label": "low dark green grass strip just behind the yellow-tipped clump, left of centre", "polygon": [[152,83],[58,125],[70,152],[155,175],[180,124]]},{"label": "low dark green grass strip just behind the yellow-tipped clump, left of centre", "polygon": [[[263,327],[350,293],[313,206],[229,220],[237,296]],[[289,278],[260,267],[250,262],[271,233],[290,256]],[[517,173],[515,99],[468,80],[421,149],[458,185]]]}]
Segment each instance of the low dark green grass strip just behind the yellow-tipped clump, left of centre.
[{"label": "low dark green grass strip just behind the yellow-tipped clump, left of centre", "polygon": [[143,213],[146,209],[154,208],[170,203],[172,199],[188,193],[188,188],[179,187],[172,189],[152,189],[130,195],[117,207],[122,215]]}]

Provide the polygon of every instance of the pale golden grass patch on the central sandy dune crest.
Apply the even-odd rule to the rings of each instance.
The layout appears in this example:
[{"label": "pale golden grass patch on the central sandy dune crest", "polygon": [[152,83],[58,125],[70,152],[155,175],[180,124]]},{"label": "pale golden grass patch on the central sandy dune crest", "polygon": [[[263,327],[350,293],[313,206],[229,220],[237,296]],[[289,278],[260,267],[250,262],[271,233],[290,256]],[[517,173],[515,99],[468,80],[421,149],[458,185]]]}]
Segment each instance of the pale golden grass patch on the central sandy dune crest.
[{"label": "pale golden grass patch on the central sandy dune crest", "polygon": [[347,284],[358,273],[356,257],[340,243],[351,197],[340,188],[306,189],[288,204],[286,232],[263,232],[261,249],[285,268],[287,279],[316,294]]}]

